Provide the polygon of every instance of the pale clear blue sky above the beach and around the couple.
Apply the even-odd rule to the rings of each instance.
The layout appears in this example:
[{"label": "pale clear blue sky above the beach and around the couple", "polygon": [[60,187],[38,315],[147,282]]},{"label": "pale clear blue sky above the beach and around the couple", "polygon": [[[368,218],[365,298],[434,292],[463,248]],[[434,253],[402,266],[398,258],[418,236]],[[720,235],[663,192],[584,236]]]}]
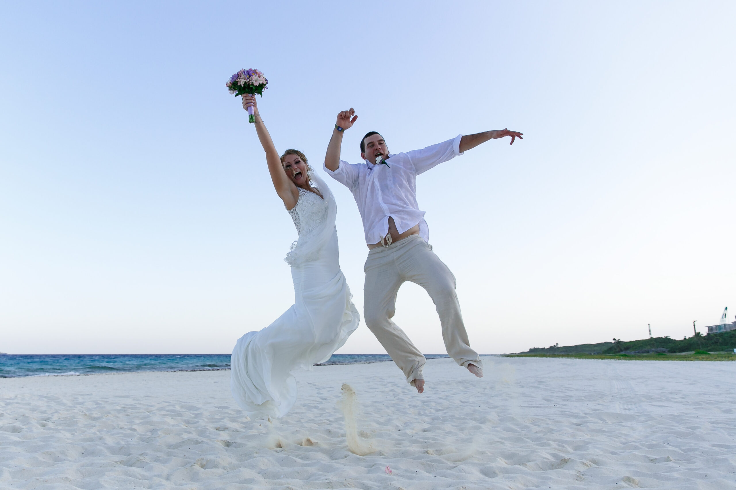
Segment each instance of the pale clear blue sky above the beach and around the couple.
[{"label": "pale clear blue sky above the beach and around the couple", "polygon": [[[392,152],[525,133],[418,180],[479,352],[692,335],[736,310],[735,24],[728,1],[4,2],[0,350],[230,352],[289,308],[296,232],[224,87],[240,68],[315,167],[348,107],[353,162],[369,130]],[[418,286],[395,320],[444,352]],[[341,352],[383,349],[361,322]]]}]

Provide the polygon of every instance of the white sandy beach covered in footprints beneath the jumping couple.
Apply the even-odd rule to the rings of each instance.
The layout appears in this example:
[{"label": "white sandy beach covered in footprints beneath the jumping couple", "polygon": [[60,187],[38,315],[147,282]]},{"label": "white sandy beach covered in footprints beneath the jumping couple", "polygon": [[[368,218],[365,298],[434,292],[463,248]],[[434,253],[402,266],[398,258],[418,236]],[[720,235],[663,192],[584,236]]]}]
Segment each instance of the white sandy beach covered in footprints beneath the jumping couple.
[{"label": "white sandy beach covered in footprints beneath the jumping couple", "polygon": [[[272,425],[227,371],[0,379],[0,488],[736,487],[736,363],[484,362],[428,361],[423,395],[393,363],[301,372]],[[342,383],[378,452],[348,451]]]}]

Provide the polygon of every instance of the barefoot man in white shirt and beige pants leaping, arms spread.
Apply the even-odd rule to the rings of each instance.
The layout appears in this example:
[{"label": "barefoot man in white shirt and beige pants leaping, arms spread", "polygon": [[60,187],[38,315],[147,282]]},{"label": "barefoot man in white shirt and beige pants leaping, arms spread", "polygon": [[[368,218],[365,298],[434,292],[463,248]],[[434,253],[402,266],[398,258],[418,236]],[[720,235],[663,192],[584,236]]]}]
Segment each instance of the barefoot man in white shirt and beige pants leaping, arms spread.
[{"label": "barefoot man in white shirt and beige pants leaping, arms spread", "polygon": [[397,324],[392,322],[400,286],[411,281],[425,288],[432,298],[442,324],[447,354],[477,377],[483,377],[478,352],[470,348],[460,303],[455,294],[455,276],[427,243],[429,230],[424,211],[417,205],[417,175],[446,162],[485,141],[523,133],[500,129],[475,135],[458,135],[425,149],[391,154],[378,132],[371,131],[361,141],[364,163],[340,160],[345,129],[355,123],[355,111],[337,115],[337,124],[325,155],[325,171],[353,192],[363,219],[368,259],[364,267],[364,318],[406,380],[424,391],[422,367],[426,359]]}]

